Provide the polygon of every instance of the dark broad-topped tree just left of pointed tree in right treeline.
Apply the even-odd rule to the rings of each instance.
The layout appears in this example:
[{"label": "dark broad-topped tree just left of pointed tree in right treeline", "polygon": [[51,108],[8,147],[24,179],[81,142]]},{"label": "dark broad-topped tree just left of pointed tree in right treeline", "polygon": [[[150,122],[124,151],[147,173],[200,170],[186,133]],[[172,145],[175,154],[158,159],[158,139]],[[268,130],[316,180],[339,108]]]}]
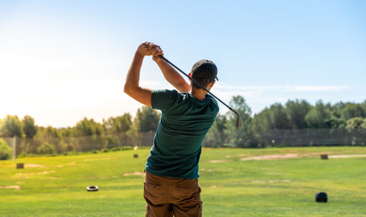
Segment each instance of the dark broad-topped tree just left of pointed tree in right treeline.
[{"label": "dark broad-topped tree just left of pointed tree in right treeline", "polygon": [[307,127],[305,116],[311,109],[311,105],[305,100],[288,100],[285,111],[289,121],[289,127],[292,129],[303,129]]}]

